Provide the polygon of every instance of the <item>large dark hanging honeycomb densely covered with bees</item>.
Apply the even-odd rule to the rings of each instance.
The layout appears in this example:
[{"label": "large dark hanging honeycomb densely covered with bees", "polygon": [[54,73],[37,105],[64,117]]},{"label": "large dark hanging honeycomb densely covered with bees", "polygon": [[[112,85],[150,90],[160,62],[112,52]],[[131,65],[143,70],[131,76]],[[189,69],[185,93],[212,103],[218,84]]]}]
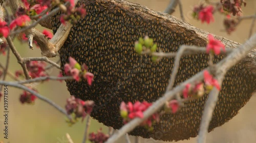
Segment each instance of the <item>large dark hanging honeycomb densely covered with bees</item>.
[{"label": "large dark hanging honeycomb densely covered with bees", "polygon": [[[206,41],[193,31],[161,24],[158,18],[145,19],[131,13],[122,6],[109,1],[81,1],[86,4],[87,16],[80,19],[60,49],[61,67],[68,63],[69,56],[80,64],[86,63],[95,75],[91,87],[86,81],[67,81],[71,95],[82,100],[95,101],[92,117],[106,126],[120,128],[119,115],[121,101],[156,101],[165,92],[174,58],[162,59],[155,64],[150,56],[138,55],[134,42],[145,35],[154,39],[158,51],[177,51],[179,45],[205,46]],[[60,14],[52,18],[56,32]],[[216,56],[214,63],[223,57]],[[188,79],[207,67],[208,56],[197,54],[181,59],[175,85]],[[250,99],[255,90],[255,77],[242,70],[243,65],[234,66],[223,81],[219,101],[209,126],[209,131],[236,116]],[[181,140],[195,137],[202,116],[207,95],[197,100],[186,101],[184,107],[175,114],[161,116],[154,131],[137,127],[130,134],[160,140]]]}]

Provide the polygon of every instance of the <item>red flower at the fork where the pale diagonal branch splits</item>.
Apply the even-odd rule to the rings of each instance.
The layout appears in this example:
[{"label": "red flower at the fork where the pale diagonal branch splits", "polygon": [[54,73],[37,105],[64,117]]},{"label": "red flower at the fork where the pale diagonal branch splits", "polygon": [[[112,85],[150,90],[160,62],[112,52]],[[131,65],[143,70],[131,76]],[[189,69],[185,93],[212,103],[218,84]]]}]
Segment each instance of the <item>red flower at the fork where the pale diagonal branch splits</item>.
[{"label": "red flower at the fork where the pale diagonal branch splits", "polygon": [[221,90],[219,82],[210,75],[207,70],[204,71],[204,83],[206,84],[206,88],[209,90],[211,90],[212,87],[215,87],[219,91]]}]

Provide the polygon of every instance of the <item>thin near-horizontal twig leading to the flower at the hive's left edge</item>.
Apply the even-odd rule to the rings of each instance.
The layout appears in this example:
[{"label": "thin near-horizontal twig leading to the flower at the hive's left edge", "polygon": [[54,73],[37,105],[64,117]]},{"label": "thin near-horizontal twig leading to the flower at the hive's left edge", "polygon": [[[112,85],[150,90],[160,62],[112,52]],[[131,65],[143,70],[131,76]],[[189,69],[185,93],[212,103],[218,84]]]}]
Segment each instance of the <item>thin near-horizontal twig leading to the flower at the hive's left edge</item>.
[{"label": "thin near-horizontal twig leading to the flower at the hive's left edge", "polygon": [[26,84],[26,83],[32,83],[32,82],[41,82],[45,80],[68,80],[68,79],[74,79],[72,76],[63,76],[63,77],[56,77],[56,76],[41,76],[33,79],[28,79],[24,81],[18,81],[16,83],[18,84]]}]

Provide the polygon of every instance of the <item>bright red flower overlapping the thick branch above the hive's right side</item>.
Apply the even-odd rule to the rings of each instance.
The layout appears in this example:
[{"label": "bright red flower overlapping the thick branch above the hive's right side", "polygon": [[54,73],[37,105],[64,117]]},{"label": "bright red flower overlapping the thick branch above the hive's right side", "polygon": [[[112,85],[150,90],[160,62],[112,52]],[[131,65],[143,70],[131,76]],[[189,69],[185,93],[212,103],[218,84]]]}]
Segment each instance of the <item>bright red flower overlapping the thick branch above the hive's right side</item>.
[{"label": "bright red flower overlapping the thick branch above the hive's right side", "polygon": [[221,41],[214,39],[214,36],[208,35],[209,42],[206,46],[206,53],[209,53],[209,51],[214,51],[215,54],[221,53],[221,48],[223,51],[225,51],[225,45],[221,43]]}]

